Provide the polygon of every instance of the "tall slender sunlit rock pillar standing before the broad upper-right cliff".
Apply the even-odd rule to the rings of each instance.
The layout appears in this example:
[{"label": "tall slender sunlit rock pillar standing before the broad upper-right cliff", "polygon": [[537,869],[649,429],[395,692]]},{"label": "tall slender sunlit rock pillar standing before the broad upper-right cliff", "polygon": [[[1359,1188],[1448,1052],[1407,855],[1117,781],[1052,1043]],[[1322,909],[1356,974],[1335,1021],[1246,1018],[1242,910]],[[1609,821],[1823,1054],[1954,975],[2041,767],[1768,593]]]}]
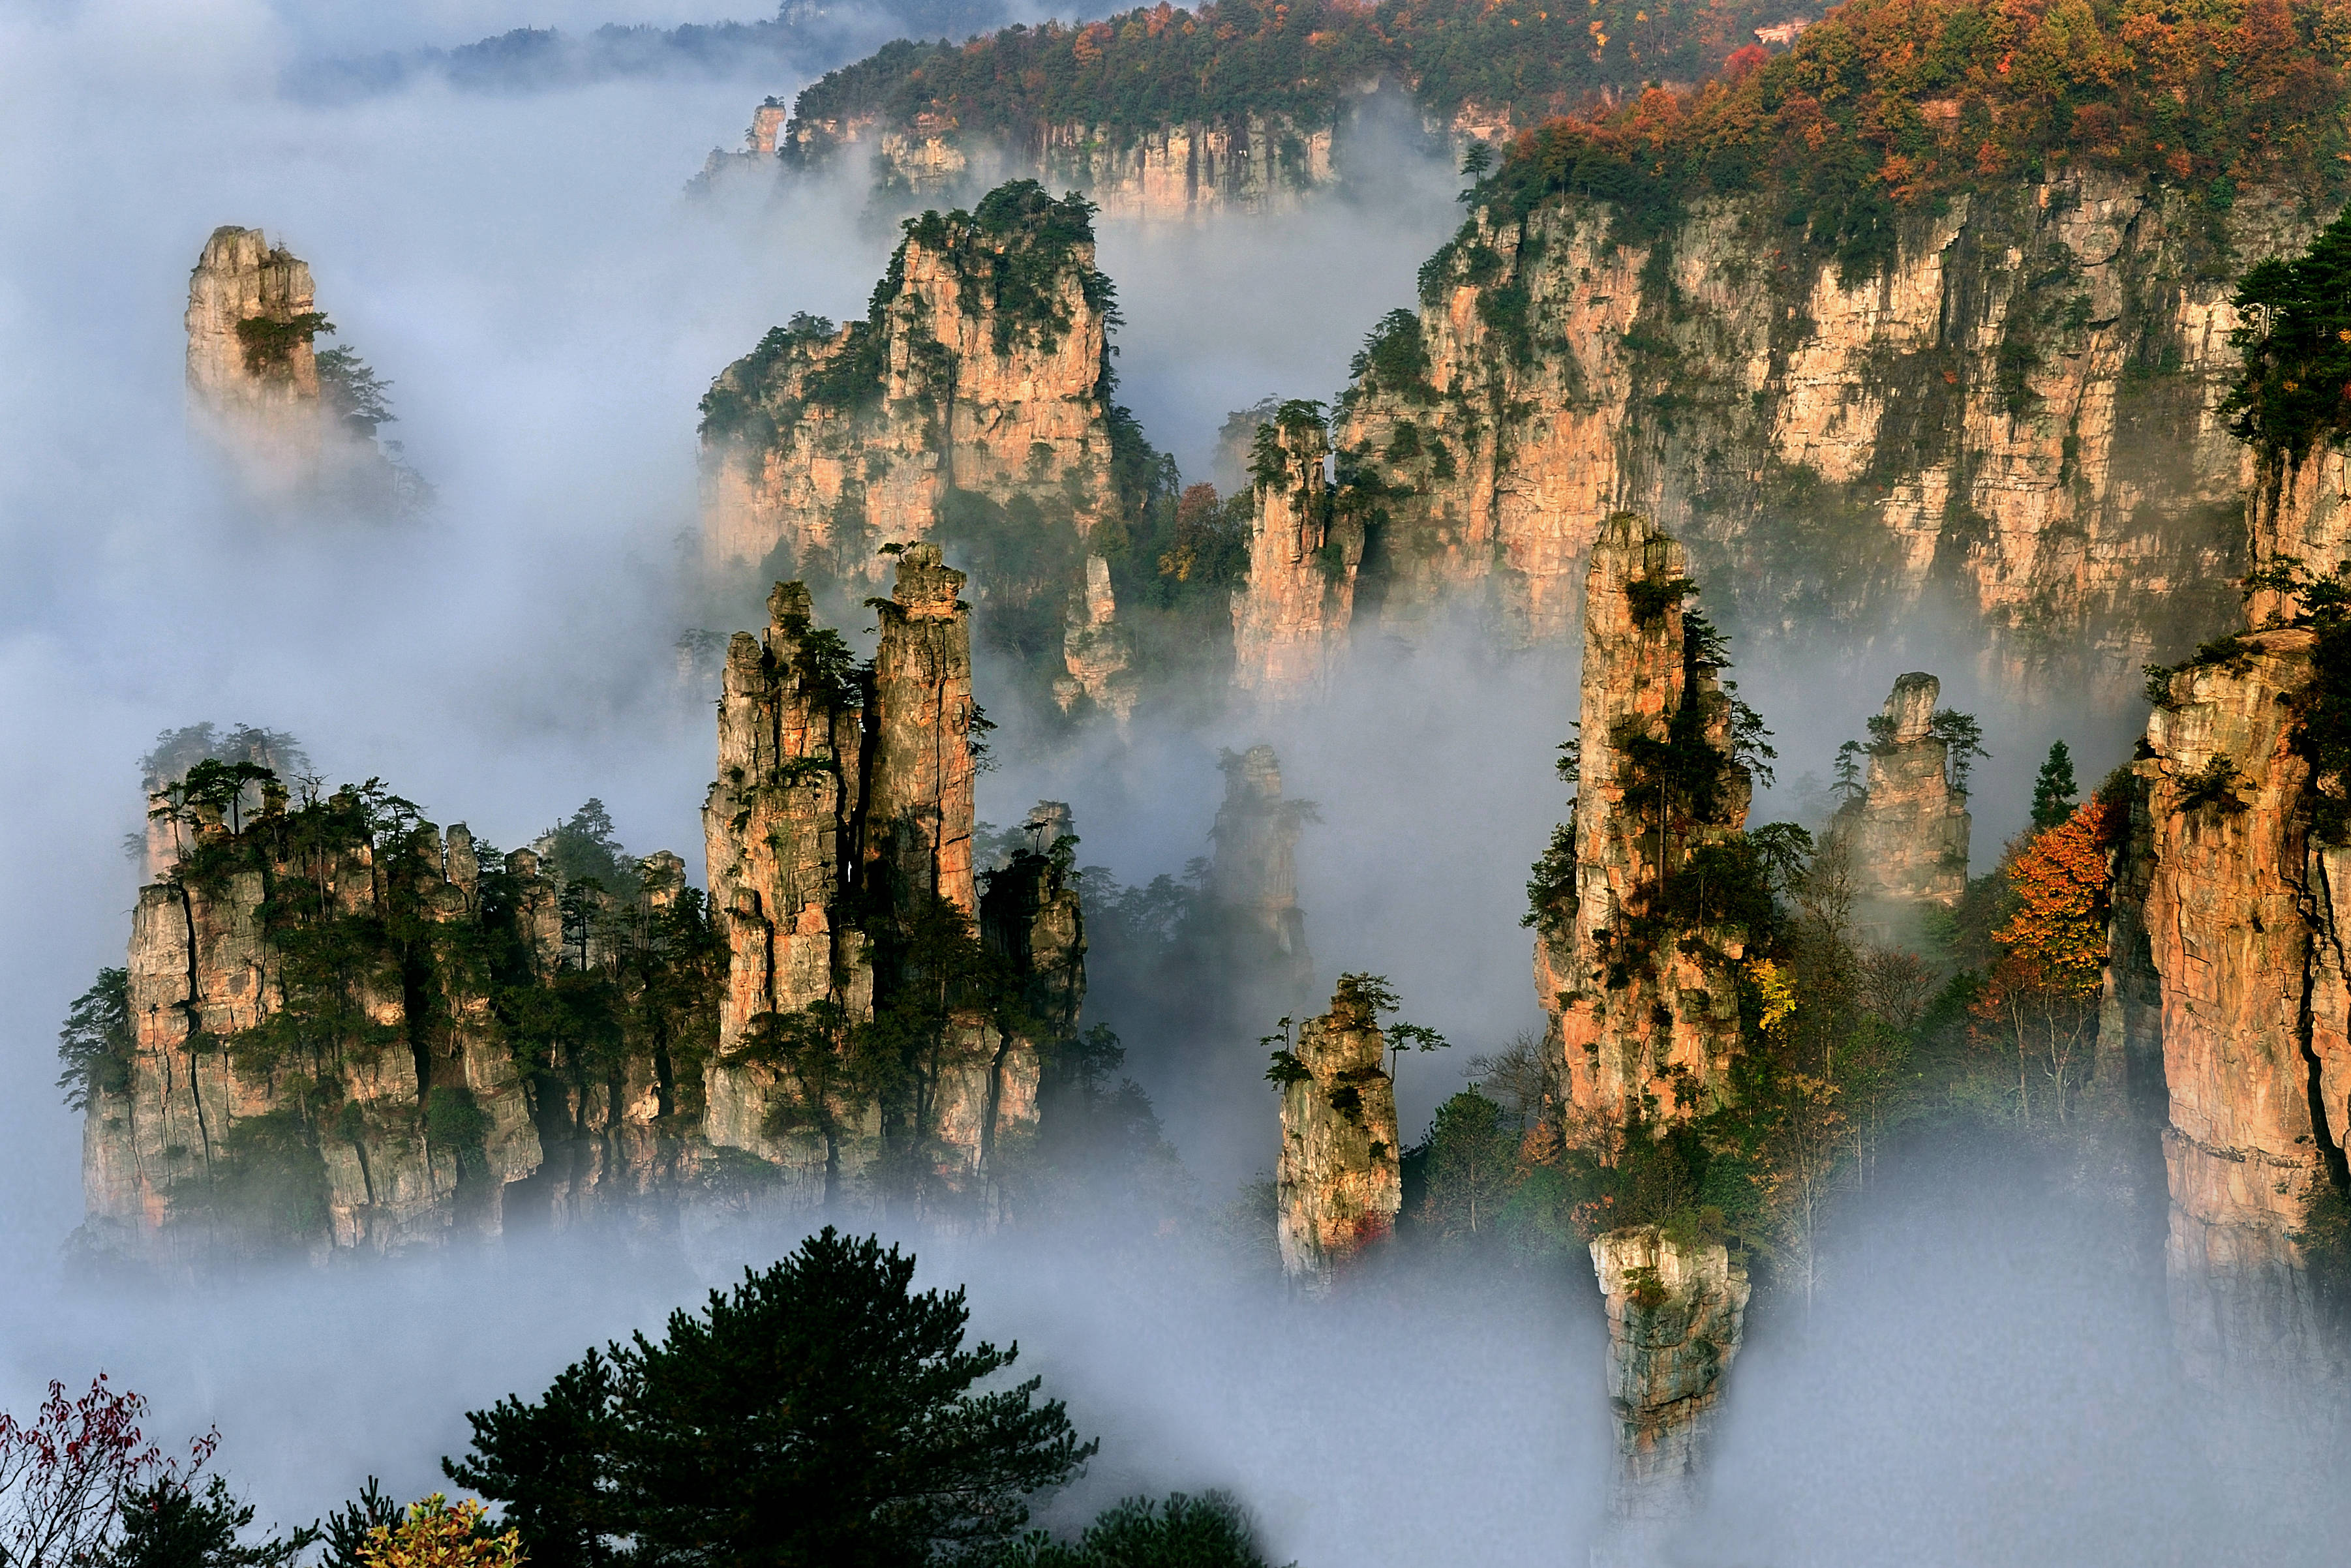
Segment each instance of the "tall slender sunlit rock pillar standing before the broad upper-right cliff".
[{"label": "tall slender sunlit rock pillar standing before the broad upper-right cliff", "polygon": [[1601,527],[1575,802],[1538,867],[1535,994],[1566,1072],[1568,1133],[1603,1147],[1643,1114],[1716,1105],[1740,1046],[1747,933],[1721,924],[1704,879],[1686,872],[1742,835],[1751,785],[1721,651],[1683,609],[1690,592],[1681,543],[1632,512]]}]

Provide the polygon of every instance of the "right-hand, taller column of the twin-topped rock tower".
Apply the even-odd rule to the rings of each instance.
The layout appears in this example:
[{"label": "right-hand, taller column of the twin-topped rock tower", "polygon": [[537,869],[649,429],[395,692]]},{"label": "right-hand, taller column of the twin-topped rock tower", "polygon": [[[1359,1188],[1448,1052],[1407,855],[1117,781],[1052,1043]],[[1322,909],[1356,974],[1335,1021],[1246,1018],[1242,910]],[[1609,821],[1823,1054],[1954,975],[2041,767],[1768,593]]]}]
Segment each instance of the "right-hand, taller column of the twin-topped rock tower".
[{"label": "right-hand, taller column of the twin-topped rock tower", "polygon": [[865,858],[889,907],[924,898],[978,912],[971,877],[971,607],[964,574],[938,545],[898,557],[898,585],[882,611],[875,651],[872,795]]}]

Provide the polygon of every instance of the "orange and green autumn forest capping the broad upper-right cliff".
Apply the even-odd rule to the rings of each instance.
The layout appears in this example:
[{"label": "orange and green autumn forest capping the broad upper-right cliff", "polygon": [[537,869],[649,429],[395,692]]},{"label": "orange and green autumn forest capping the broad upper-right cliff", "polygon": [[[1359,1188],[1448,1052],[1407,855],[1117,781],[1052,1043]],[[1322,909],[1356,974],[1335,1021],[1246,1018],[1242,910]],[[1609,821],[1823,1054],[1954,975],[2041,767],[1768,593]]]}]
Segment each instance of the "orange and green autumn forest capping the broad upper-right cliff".
[{"label": "orange and green autumn forest capping the broad upper-right cliff", "polygon": [[2346,66],[2351,21],[2320,5],[1853,0],[1787,54],[1540,127],[1476,200],[1526,214],[1573,193],[1650,228],[1766,188],[1850,273],[1893,259],[1907,209],[2069,167],[2149,174],[2222,212],[2252,183],[2337,193]]}]

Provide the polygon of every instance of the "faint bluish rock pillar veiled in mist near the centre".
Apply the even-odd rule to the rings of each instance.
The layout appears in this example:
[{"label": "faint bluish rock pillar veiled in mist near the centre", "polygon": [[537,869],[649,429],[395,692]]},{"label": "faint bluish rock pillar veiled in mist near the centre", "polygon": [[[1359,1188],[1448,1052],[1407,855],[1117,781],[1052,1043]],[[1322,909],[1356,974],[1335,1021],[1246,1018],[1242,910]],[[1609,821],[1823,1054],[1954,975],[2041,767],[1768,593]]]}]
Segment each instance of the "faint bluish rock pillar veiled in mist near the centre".
[{"label": "faint bluish rock pillar veiled in mist near the centre", "polygon": [[1199,917],[1213,973],[1248,997],[1251,1016],[1302,1011],[1314,994],[1307,917],[1298,907],[1298,837],[1314,802],[1281,797],[1281,759],[1270,745],[1225,752],[1225,804],[1208,830],[1215,853]]}]

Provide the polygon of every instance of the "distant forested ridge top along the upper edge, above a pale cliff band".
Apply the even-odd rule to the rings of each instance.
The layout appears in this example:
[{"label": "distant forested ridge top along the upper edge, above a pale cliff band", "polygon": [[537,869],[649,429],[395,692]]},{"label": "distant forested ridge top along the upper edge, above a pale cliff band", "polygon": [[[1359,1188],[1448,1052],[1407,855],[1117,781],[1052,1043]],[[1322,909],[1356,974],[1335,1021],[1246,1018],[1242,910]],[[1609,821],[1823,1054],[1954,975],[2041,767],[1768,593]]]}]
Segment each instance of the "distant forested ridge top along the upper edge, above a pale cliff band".
[{"label": "distant forested ridge top along the upper edge, above a pale cliff band", "polygon": [[1422,113],[1472,108],[1531,125],[1594,94],[1697,80],[1754,45],[1754,28],[1806,16],[1782,0],[1211,0],[1067,26],[1011,26],[952,45],[900,40],[828,73],[792,108],[792,148],[823,153],[820,122],[879,118],[994,136],[1046,125],[1133,134],[1161,125],[1286,115],[1328,127],[1371,80],[1406,85]]}]

